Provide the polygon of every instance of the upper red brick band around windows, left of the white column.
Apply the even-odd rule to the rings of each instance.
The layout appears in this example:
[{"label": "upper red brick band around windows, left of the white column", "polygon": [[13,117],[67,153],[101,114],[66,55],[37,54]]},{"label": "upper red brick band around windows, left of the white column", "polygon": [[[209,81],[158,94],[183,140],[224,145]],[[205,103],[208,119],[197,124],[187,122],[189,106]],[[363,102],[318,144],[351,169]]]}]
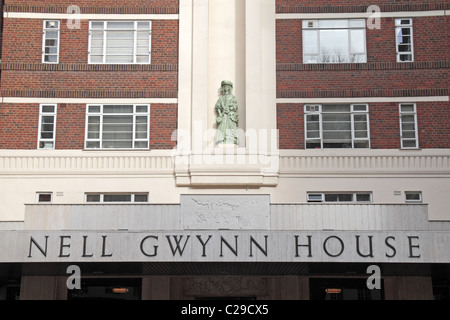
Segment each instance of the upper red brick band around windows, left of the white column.
[{"label": "upper red brick band around windows, left of the white column", "polygon": [[42,23],[40,19],[5,20],[4,96],[86,97],[86,91],[94,90],[103,97],[130,97],[133,91],[146,97],[176,97],[178,21],[152,22],[151,65],[122,66],[87,63],[87,20],[82,20],[79,30],[66,28],[62,20],[60,63],[42,64]]}]

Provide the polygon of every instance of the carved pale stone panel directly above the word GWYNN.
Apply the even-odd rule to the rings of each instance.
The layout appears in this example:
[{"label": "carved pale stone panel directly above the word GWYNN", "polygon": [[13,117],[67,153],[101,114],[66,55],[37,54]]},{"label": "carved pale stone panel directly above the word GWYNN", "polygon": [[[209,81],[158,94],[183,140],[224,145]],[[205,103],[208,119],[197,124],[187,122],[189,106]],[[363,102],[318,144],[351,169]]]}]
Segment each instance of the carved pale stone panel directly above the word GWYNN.
[{"label": "carved pale stone panel directly above the word GWYNN", "polygon": [[182,195],[184,229],[270,228],[269,195]]}]

